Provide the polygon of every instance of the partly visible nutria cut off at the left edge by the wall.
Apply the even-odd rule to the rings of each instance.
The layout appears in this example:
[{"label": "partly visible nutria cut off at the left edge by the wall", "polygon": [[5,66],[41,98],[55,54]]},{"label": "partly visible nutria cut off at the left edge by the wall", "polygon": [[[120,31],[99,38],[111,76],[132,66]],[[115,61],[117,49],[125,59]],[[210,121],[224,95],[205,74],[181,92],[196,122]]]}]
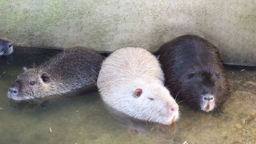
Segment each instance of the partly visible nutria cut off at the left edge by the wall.
[{"label": "partly visible nutria cut off at the left edge by the wall", "polygon": [[6,38],[0,38],[0,57],[8,56],[13,53],[13,44]]}]

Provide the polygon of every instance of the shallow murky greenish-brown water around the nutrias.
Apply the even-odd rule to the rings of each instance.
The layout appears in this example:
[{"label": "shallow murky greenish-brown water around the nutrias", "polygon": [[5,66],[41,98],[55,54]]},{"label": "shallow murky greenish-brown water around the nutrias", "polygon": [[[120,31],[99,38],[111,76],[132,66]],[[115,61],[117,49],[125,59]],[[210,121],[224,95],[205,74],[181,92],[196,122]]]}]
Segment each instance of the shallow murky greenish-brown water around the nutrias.
[{"label": "shallow murky greenish-brown water around the nutrias", "polygon": [[134,134],[108,113],[98,92],[17,108],[17,104],[9,102],[6,92],[22,73],[22,67],[38,66],[58,50],[25,47],[14,50],[12,58],[0,58],[1,144],[256,143],[256,70],[226,68],[231,97],[221,112],[208,114],[183,103],[180,120],[165,132],[147,127],[144,132]]}]

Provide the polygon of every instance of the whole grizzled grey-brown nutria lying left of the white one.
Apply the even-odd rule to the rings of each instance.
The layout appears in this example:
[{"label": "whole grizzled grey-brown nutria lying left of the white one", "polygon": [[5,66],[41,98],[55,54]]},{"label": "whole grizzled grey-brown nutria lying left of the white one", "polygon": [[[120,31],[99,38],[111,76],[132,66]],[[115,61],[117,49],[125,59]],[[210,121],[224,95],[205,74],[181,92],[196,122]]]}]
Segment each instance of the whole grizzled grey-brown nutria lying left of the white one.
[{"label": "whole grizzled grey-brown nutria lying left of the white one", "polygon": [[83,47],[64,50],[38,68],[26,69],[8,90],[12,100],[49,98],[96,87],[103,56]]}]

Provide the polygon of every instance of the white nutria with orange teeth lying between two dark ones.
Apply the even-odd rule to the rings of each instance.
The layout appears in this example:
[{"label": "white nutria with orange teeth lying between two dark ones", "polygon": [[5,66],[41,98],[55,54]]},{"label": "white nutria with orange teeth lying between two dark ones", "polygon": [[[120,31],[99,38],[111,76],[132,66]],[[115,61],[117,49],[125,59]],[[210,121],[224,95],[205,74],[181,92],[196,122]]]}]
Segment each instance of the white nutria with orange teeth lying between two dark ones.
[{"label": "white nutria with orange teeth lying between two dark ones", "polygon": [[110,54],[102,63],[97,86],[108,106],[131,118],[166,125],[179,118],[160,63],[143,48],[121,48]]}]

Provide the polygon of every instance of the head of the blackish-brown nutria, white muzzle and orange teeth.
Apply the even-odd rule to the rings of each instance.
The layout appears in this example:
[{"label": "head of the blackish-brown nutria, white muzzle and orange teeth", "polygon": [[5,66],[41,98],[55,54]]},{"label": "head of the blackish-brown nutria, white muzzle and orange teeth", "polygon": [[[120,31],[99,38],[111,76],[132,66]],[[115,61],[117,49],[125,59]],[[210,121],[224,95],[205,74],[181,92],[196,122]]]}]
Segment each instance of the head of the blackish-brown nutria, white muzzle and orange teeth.
[{"label": "head of the blackish-brown nutria, white muzzle and orange teeth", "polygon": [[[190,70],[180,77],[181,90],[184,100],[191,106],[198,107],[204,112],[218,108],[224,101],[225,93],[221,93],[225,84],[221,79],[218,68],[198,68],[191,66]],[[225,85],[224,85],[225,86]],[[179,94],[178,94],[179,95]]]}]

